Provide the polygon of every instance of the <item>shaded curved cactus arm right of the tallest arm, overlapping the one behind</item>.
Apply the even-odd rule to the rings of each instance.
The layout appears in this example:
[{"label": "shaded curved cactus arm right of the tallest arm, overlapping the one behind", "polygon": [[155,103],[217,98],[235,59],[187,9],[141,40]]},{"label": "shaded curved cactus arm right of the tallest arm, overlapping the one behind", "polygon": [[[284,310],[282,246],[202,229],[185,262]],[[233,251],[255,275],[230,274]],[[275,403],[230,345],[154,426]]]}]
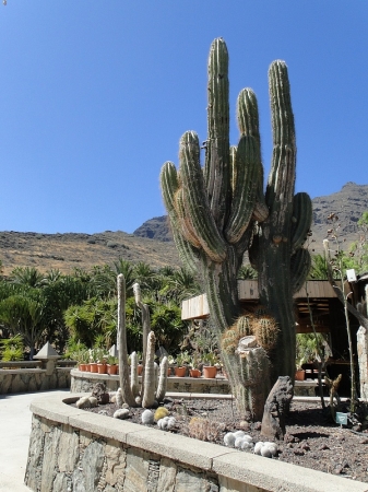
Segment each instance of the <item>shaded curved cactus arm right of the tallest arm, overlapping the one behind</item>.
[{"label": "shaded curved cactus arm right of the tallest arm, overlapping the one behind", "polygon": [[254,209],[260,171],[259,145],[253,137],[242,136],[236,153],[236,187],[225,229],[229,243],[238,243],[249,225]]}]

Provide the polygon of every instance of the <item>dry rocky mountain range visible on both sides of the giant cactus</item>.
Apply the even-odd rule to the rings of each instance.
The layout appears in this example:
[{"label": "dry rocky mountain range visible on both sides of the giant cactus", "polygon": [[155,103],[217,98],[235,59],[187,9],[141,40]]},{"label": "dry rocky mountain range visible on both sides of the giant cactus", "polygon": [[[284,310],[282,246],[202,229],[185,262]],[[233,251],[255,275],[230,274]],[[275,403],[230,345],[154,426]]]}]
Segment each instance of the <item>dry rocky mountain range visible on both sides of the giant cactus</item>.
[{"label": "dry rocky mountain range visible on both sides of the giant cactus", "polygon": [[[340,237],[346,247],[358,238],[357,221],[368,211],[368,185],[347,183],[332,195],[318,197],[313,203],[313,225],[310,248],[322,253],[331,212],[339,215]],[[90,269],[94,265],[112,263],[118,258],[132,262],[145,261],[155,268],[179,265],[167,216],[144,222],[133,234],[105,231],[98,234],[40,234],[0,232],[0,259],[4,273],[15,267],[36,267],[40,271],[57,268],[71,272],[73,268]]]}]

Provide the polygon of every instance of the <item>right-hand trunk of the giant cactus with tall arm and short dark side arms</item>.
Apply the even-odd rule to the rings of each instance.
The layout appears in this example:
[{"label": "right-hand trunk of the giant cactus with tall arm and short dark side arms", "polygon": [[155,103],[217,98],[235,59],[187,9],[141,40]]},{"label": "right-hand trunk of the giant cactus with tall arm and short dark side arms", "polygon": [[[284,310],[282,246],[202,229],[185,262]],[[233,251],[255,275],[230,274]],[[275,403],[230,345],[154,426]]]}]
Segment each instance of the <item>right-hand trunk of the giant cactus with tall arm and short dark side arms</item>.
[{"label": "right-hand trunk of the giant cactus with tall arm and short dark side arms", "polygon": [[258,225],[250,259],[259,272],[260,302],[268,306],[280,326],[276,350],[272,356],[274,383],[280,375],[288,375],[294,380],[296,337],[293,294],[302,286],[310,269],[310,255],[302,246],[311,225],[312,207],[307,194],[294,195],[295,127],[284,61],[277,60],[271,65],[269,86],[273,155],[265,203],[270,213]]}]

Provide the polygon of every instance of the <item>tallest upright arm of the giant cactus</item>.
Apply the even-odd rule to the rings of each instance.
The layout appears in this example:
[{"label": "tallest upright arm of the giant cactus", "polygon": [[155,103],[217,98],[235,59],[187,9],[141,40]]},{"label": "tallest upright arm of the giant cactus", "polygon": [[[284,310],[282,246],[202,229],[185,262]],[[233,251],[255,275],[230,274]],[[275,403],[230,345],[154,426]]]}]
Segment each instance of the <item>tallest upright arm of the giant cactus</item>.
[{"label": "tallest upright arm of the giant cactus", "polygon": [[207,142],[204,167],[212,215],[219,230],[229,200],[229,105],[228,52],[223,38],[215,39],[209,57]]}]

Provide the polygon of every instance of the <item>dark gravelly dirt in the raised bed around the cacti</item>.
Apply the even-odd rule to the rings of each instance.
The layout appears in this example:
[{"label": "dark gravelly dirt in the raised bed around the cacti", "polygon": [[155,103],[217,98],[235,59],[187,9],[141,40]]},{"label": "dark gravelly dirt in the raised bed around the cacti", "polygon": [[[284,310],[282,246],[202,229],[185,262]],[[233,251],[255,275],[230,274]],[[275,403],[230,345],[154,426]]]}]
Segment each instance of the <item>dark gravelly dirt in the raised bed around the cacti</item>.
[{"label": "dark gravelly dirt in the raised bed around the cacti", "polygon": [[[253,437],[254,443],[263,441],[260,422],[241,421],[230,400],[166,398],[164,407],[170,417],[176,418],[176,426],[170,432],[198,437],[198,427],[189,424],[195,417],[207,420],[205,441],[224,445],[224,435],[236,430],[246,431]],[[109,417],[112,417],[116,410],[115,403],[88,409]],[[142,408],[131,408],[128,420],[142,423],[143,411]],[[357,432],[336,425],[330,410],[323,411],[320,402],[294,400],[286,420],[285,438],[276,444],[277,456],[273,459],[368,482],[368,430]]]}]

